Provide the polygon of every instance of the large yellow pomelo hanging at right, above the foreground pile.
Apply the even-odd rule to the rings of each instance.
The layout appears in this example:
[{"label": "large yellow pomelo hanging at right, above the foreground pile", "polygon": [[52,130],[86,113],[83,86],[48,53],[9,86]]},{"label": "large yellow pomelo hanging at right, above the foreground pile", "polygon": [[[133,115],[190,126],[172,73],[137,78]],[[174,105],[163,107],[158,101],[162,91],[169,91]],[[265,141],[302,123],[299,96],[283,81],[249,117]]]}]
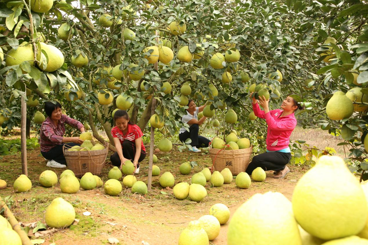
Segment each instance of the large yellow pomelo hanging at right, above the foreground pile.
[{"label": "large yellow pomelo hanging at right, above the foreground pile", "polygon": [[349,118],[353,111],[353,102],[342,91],[335,92],[327,102],[326,113],[331,120]]}]

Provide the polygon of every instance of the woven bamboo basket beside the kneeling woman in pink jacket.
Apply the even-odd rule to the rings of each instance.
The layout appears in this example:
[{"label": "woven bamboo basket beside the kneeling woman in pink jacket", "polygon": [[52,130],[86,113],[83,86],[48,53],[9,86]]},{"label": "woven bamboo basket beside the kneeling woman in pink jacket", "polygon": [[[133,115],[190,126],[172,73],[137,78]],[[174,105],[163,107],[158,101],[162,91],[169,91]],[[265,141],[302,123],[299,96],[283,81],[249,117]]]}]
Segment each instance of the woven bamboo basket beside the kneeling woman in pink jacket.
[{"label": "woven bamboo basket beside the kneeling woman in pink jacket", "polygon": [[210,148],[210,157],[212,159],[212,172],[222,171],[228,168],[233,175],[245,172],[248,168],[252,147],[238,150],[224,150]]}]

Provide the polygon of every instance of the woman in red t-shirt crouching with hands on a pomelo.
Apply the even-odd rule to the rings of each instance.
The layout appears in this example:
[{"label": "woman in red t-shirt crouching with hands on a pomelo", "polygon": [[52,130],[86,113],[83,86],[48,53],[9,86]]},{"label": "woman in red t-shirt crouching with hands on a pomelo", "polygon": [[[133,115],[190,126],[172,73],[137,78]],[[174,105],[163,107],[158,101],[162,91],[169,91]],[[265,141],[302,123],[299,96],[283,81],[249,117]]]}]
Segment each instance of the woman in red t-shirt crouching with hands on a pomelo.
[{"label": "woman in red t-shirt crouching with hands on a pomelo", "polygon": [[116,152],[110,156],[112,165],[122,167],[124,162],[131,160],[135,173],[139,172],[139,163],[146,157],[143,145],[143,133],[136,124],[129,121],[127,111],[117,110],[114,114],[115,127],[111,129]]}]

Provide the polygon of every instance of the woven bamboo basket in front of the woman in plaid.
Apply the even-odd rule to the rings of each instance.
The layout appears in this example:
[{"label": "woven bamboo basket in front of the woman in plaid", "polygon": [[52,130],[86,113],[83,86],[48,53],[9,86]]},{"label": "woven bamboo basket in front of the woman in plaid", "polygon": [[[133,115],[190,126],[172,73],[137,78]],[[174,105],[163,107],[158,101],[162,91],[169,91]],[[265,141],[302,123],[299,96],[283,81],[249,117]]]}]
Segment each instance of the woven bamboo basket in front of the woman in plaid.
[{"label": "woven bamboo basket in front of the woman in plaid", "polygon": [[74,172],[77,177],[81,177],[86,172],[94,175],[100,175],[105,166],[105,160],[108,152],[108,143],[105,143],[103,150],[69,151],[71,148],[64,145],[63,153],[68,168]]}]

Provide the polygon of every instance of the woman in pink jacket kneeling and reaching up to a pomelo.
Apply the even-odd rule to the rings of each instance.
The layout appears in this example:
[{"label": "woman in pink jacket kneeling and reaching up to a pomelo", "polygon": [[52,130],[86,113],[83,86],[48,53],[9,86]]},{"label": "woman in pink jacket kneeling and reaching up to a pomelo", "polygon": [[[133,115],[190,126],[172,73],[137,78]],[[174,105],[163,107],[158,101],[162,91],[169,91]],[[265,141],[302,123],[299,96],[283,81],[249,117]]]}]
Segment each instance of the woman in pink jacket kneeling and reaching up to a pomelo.
[{"label": "woman in pink jacket kneeling and reaching up to a pomelo", "polygon": [[[274,178],[283,178],[290,172],[286,165],[291,159],[290,135],[296,126],[294,111],[302,110],[304,107],[288,96],[281,104],[282,109],[270,111],[268,108],[269,99],[266,100],[263,96],[257,101],[256,98],[252,97],[252,94],[250,97],[252,98],[254,115],[265,119],[267,123],[267,152],[254,156],[246,172],[252,174],[253,170],[261,167],[264,171],[273,170]],[[263,107],[263,111],[259,104]]]}]

